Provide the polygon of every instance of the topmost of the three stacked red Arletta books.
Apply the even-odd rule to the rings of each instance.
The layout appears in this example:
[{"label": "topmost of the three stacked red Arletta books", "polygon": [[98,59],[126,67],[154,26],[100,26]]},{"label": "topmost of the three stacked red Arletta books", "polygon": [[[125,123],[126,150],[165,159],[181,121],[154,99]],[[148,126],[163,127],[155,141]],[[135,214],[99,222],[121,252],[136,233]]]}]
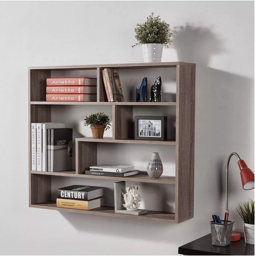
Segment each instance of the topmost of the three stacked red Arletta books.
[{"label": "topmost of the three stacked red Arletta books", "polygon": [[97,79],[91,77],[47,78],[47,86],[97,85]]}]

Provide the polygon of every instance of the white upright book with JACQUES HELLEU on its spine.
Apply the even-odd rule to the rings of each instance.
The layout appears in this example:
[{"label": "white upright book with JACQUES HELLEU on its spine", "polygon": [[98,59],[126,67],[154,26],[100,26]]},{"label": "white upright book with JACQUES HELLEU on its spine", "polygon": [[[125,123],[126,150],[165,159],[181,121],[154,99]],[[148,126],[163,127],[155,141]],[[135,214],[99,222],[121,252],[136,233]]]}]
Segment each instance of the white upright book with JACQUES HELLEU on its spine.
[{"label": "white upright book with JACQUES HELLEU on its spine", "polygon": [[42,171],[49,172],[47,164],[47,129],[51,128],[65,128],[62,123],[43,123],[42,124]]}]

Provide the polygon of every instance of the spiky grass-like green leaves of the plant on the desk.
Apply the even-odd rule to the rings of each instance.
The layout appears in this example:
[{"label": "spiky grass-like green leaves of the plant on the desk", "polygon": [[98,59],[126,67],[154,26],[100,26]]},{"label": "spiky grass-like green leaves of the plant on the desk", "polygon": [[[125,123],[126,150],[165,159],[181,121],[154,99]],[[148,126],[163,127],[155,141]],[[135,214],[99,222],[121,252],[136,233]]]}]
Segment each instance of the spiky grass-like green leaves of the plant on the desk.
[{"label": "spiky grass-like green leaves of the plant on the desk", "polygon": [[244,223],[254,225],[254,201],[249,198],[248,201],[237,203],[236,211],[239,213]]}]

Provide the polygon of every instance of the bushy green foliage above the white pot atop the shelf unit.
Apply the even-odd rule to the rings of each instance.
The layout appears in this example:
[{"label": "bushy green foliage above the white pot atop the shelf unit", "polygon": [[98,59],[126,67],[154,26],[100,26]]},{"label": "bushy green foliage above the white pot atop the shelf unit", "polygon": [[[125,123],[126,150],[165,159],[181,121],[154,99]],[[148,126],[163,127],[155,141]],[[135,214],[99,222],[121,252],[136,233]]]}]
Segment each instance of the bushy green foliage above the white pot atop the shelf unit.
[{"label": "bushy green foliage above the white pot atop the shelf unit", "polygon": [[161,21],[160,16],[153,17],[154,13],[147,17],[144,24],[136,24],[135,28],[135,38],[138,41],[134,48],[140,44],[163,44],[167,48],[171,44],[170,25],[164,20]]}]

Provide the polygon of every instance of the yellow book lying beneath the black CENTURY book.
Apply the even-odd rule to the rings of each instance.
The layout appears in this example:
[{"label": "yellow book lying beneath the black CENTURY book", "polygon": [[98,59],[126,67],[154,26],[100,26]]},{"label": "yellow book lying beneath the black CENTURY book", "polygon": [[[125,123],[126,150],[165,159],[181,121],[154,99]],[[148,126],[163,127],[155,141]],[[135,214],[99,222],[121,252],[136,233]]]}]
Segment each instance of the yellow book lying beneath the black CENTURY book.
[{"label": "yellow book lying beneath the black CENTURY book", "polygon": [[83,200],[57,198],[57,207],[78,209],[78,210],[93,210],[101,207],[100,199],[101,198],[92,199],[89,201],[83,201]]}]

